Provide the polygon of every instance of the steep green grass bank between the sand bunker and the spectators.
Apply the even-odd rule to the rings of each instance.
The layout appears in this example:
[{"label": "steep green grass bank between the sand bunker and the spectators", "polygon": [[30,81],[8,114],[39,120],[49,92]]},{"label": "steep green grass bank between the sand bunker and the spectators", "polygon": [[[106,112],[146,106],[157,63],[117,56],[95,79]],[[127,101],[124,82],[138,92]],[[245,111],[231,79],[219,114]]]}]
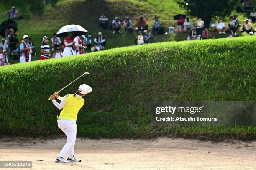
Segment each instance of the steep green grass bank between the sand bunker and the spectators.
[{"label": "steep green grass bank between the sand bunker and the spectators", "polygon": [[151,102],[255,101],[255,36],[194,42],[163,42],[80,56],[0,67],[0,134],[60,134],[47,100],[92,87],[79,111],[77,135],[87,138],[156,136],[255,140],[255,126],[151,126]]}]

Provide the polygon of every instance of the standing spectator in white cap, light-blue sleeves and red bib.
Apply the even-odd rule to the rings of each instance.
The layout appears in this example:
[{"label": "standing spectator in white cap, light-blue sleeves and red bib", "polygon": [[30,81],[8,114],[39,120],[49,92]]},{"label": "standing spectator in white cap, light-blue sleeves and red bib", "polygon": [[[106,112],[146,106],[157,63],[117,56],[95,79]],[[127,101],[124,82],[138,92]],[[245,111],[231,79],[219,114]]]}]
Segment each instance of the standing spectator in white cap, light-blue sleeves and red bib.
[{"label": "standing spectator in white cap, light-blue sleeves and red bib", "polygon": [[30,49],[31,48],[28,44],[28,35],[24,35],[23,41],[20,44],[20,63],[31,61],[29,58]]}]

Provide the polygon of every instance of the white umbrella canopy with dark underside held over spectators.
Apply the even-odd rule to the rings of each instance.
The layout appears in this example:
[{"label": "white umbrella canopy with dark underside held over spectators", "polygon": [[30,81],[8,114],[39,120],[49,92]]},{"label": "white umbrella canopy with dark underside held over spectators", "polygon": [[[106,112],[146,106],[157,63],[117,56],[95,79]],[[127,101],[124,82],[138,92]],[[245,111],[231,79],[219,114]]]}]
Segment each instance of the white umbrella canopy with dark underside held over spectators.
[{"label": "white umbrella canopy with dark underside held over spectators", "polygon": [[72,37],[76,37],[79,35],[84,35],[87,33],[87,30],[85,30],[80,25],[65,25],[59,31],[57,32],[58,37],[67,37],[67,32],[72,32]]}]

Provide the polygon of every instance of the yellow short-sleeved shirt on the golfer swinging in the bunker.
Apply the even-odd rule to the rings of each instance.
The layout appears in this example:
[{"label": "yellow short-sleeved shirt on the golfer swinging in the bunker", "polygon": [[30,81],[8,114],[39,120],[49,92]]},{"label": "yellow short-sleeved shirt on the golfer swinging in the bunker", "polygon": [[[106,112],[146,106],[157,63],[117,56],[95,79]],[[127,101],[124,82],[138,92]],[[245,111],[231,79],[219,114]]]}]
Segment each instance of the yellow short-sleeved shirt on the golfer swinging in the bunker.
[{"label": "yellow short-sleeved shirt on the golfer swinging in the bunker", "polygon": [[84,105],[84,99],[72,94],[67,94],[64,100],[66,101],[66,105],[63,107],[59,118],[77,121],[77,113]]}]

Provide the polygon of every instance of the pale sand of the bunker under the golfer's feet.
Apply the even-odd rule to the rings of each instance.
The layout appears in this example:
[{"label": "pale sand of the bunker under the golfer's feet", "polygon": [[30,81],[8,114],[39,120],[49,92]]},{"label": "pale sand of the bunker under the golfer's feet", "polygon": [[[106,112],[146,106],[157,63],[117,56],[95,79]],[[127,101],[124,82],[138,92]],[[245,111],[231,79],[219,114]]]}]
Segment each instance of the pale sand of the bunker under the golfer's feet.
[{"label": "pale sand of the bunker under the golfer's feet", "polygon": [[[0,161],[32,161],[40,170],[255,170],[256,141],[88,140],[77,138],[81,163],[54,163],[66,139],[1,138]],[[4,168],[17,169],[17,168]],[[19,168],[18,168],[19,169]]]}]

